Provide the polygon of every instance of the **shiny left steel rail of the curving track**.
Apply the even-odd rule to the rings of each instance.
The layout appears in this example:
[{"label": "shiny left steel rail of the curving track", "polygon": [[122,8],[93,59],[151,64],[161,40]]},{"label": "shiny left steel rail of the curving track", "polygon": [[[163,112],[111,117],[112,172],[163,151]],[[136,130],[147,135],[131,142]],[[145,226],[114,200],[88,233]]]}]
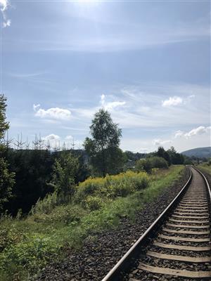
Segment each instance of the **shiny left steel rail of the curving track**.
[{"label": "shiny left steel rail of the curving track", "polygon": [[188,185],[191,183],[192,179],[192,171],[190,171],[190,176],[188,178],[188,181],[184,185],[184,187],[181,189],[181,191],[178,193],[178,195],[172,200],[172,202],[165,208],[164,211],[162,211],[162,214],[156,218],[156,220],[151,224],[151,226],[141,235],[141,237],[133,244],[133,246],[127,251],[124,256],[122,256],[122,259],[116,263],[116,265],[108,272],[106,277],[103,278],[101,281],[118,281],[120,280],[119,273],[121,271],[126,271],[129,269],[129,266],[131,265],[131,259],[138,256],[140,253],[140,249],[146,247],[147,241],[149,238],[153,237],[153,234],[158,230],[158,228],[162,225],[163,221],[167,218],[167,216],[172,211],[172,208],[179,202],[181,197],[186,192],[186,189],[188,188]]}]

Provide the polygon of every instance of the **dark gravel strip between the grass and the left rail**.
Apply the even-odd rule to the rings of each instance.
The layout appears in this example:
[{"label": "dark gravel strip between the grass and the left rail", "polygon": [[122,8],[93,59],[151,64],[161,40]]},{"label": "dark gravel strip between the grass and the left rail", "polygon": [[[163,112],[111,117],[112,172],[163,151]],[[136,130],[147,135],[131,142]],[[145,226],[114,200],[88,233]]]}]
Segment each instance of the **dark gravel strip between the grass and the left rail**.
[{"label": "dark gravel strip between the grass and the left rail", "polygon": [[[172,188],[136,213],[134,223],[122,218],[119,228],[95,234],[95,239],[84,241],[81,251],[69,254],[64,261],[53,263],[43,270],[37,280],[56,281],[99,281],[115,266],[115,263],[127,252],[144,231],[155,221],[155,218],[174,199],[188,180],[189,171],[174,183]],[[93,237],[93,234],[92,234]]]}]

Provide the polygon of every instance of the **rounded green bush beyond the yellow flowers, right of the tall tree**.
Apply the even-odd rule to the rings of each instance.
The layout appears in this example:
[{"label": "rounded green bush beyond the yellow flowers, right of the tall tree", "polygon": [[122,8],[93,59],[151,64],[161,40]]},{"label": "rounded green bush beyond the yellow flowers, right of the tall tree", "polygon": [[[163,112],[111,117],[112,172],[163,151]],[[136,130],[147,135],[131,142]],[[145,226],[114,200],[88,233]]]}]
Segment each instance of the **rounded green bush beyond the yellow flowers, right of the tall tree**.
[{"label": "rounded green bush beyond the yellow flowers, right of the tall tree", "polygon": [[140,159],[136,162],[136,171],[151,173],[153,168],[167,169],[168,163],[164,158],[158,156]]}]

